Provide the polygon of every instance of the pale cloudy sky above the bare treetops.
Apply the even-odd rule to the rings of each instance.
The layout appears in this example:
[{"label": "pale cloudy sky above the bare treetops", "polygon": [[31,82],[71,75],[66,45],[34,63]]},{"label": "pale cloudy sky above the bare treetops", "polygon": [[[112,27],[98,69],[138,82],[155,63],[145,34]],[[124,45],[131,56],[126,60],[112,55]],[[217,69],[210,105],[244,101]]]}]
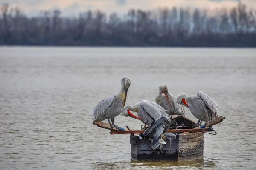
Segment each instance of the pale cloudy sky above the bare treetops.
[{"label": "pale cloudy sky above the bare treetops", "polygon": [[26,14],[37,15],[39,11],[60,9],[62,15],[77,15],[81,11],[100,9],[106,14],[116,12],[125,14],[131,8],[152,10],[158,7],[198,7],[198,8],[232,8],[241,1],[256,9],[256,0],[0,0],[18,6]]}]

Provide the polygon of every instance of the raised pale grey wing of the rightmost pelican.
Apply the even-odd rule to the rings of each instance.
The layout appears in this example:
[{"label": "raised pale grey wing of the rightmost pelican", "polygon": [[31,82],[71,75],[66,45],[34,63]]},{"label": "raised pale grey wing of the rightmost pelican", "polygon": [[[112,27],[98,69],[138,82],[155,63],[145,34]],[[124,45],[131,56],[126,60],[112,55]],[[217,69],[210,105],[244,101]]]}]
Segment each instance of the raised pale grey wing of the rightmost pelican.
[{"label": "raised pale grey wing of the rightmost pelican", "polygon": [[205,94],[202,91],[198,91],[197,95],[205,103],[205,105],[207,105],[209,110],[212,112],[213,118],[217,118],[218,111],[219,111],[218,103],[216,103],[212,98],[210,98],[207,94]]}]

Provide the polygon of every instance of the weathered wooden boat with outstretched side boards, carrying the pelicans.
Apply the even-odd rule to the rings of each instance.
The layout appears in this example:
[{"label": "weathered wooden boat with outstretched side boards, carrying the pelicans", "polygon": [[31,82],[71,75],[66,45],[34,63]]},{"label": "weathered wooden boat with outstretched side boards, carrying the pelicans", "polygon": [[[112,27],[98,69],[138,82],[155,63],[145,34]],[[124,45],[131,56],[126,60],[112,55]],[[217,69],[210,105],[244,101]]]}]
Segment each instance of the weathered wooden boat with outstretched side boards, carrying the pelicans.
[{"label": "weathered wooden boat with outstretched side boards, carrying the pelicans", "polygon": [[[204,133],[212,131],[212,126],[221,123],[225,117],[219,116],[206,122],[200,127],[195,127],[195,122],[185,116],[175,116],[172,118],[172,126],[167,133],[176,134],[174,139],[164,139],[166,144],[160,144],[160,147],[153,150],[151,140],[139,139],[134,134],[144,133],[145,130],[118,131],[111,128],[104,122],[95,122],[98,127],[110,129],[110,134],[131,134],[131,158],[134,161],[191,161],[203,157],[204,153]],[[184,125],[185,124],[185,125]]]}]

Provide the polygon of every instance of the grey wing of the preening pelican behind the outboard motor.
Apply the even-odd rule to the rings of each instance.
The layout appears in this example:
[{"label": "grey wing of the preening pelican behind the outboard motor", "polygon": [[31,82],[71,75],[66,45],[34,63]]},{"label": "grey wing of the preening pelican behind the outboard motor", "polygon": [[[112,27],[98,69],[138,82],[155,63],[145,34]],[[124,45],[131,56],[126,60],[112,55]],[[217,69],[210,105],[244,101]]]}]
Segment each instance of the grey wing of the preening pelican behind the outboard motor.
[{"label": "grey wing of the preening pelican behind the outboard motor", "polygon": [[157,119],[158,117],[162,116],[163,113],[165,114],[163,108],[160,109],[156,105],[151,104],[146,100],[143,100],[140,106],[140,112],[144,112],[143,114],[141,114],[141,119],[146,120],[147,122]]}]

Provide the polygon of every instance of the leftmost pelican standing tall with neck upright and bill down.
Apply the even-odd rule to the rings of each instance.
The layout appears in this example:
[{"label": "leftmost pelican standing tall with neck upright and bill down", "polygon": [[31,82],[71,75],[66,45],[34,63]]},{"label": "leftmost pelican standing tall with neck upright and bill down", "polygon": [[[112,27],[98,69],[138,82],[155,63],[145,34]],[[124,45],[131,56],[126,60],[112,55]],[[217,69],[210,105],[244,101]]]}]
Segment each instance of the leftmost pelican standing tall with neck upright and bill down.
[{"label": "leftmost pelican standing tall with neck upright and bill down", "polygon": [[[122,77],[121,91],[102,100],[93,108],[93,122],[108,119],[108,123],[111,128],[113,128],[113,125],[115,125],[115,117],[121,113],[122,108],[125,106],[126,96],[130,85],[131,81],[129,77]],[[109,119],[111,119],[112,124]],[[118,128],[117,125],[115,126]]]}]

